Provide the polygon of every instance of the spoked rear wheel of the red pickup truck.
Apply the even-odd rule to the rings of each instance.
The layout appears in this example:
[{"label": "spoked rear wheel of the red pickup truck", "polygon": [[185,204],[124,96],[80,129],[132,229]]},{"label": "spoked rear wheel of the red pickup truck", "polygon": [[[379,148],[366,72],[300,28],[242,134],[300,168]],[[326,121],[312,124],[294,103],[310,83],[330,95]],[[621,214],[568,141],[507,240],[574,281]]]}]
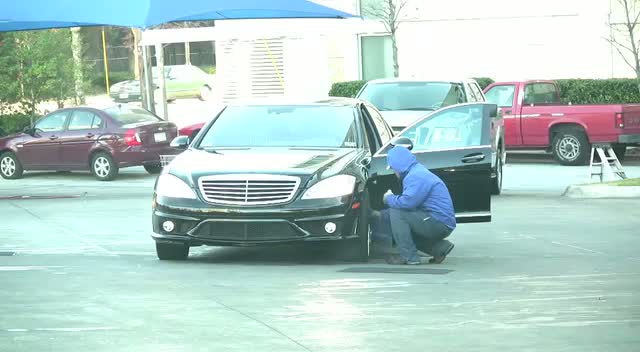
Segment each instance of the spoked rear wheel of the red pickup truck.
[{"label": "spoked rear wheel of the red pickup truck", "polygon": [[559,128],[552,142],[553,158],[562,165],[586,165],[591,145],[584,132],[575,127]]}]

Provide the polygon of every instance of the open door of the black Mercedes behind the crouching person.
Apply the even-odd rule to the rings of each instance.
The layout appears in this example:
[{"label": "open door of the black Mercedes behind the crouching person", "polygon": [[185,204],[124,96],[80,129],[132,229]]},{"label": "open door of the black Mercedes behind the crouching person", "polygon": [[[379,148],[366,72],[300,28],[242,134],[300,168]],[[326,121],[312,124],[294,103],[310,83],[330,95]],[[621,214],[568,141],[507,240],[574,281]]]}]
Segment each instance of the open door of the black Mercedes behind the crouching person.
[{"label": "open door of the black Mercedes behind the crouching person", "polygon": [[372,177],[393,174],[387,152],[397,138],[412,142],[418,162],[447,185],[458,223],[491,221],[491,118],[497,106],[488,103],[451,105],[417,120],[373,156]]}]

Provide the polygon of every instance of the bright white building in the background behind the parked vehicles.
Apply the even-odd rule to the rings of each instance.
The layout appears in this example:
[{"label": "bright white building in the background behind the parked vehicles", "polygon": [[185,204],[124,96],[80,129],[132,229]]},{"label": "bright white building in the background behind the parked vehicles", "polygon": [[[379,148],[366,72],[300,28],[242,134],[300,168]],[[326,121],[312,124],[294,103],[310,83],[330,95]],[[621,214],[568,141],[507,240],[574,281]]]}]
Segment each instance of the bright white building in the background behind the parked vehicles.
[{"label": "bright white building in the background behind the parked vehicles", "polygon": [[[350,13],[385,0],[314,0]],[[364,3],[361,4],[361,1]],[[401,0],[397,0],[401,1]],[[615,0],[408,0],[397,32],[401,76],[495,80],[630,77],[606,41]],[[326,96],[333,82],[391,77],[377,20],[216,22],[220,98]]]}]

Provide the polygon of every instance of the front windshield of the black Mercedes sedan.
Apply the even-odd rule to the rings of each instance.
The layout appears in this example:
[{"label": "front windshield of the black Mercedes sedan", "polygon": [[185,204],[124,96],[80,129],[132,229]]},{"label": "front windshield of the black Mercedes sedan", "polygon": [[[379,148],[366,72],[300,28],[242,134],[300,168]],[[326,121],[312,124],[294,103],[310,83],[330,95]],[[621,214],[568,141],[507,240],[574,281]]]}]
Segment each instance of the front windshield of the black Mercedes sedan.
[{"label": "front windshield of the black Mercedes sedan", "polygon": [[355,148],[355,114],[349,106],[228,107],[198,148]]}]

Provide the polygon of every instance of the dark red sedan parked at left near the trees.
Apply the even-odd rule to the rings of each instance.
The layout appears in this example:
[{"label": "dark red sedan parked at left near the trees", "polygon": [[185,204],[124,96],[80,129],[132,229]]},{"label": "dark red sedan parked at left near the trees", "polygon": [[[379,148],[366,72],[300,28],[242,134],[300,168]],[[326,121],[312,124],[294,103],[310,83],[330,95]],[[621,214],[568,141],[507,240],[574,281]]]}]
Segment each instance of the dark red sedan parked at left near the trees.
[{"label": "dark red sedan parked at left near the trees", "polygon": [[109,181],[120,168],[140,165],[157,174],[160,155],[174,154],[169,143],[176,136],[175,124],[139,107],[61,109],[23,133],[0,138],[0,175],[17,179],[26,170],[89,169]]}]

